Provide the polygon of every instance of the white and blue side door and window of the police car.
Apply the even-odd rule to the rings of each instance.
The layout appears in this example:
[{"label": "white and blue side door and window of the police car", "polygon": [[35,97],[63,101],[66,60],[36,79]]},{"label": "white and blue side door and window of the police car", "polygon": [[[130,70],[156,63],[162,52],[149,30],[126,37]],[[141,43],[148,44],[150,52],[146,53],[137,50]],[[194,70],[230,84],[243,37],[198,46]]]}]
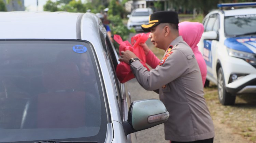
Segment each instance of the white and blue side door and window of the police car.
[{"label": "white and blue side door and window of the police car", "polygon": [[[204,32],[215,31],[218,35],[219,31],[219,15],[212,14],[206,18],[203,22]],[[208,78],[213,78],[216,74],[216,50],[218,44],[217,39],[203,39],[203,58],[207,65],[207,76]]]}]

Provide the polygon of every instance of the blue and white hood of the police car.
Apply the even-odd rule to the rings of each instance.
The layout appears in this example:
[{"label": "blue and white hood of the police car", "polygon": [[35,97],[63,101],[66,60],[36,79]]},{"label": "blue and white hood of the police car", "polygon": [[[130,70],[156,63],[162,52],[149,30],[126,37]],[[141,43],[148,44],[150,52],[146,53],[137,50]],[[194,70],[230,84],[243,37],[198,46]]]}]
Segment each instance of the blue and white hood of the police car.
[{"label": "blue and white hood of the police car", "polygon": [[230,49],[248,53],[256,53],[256,36],[227,38],[224,41],[224,45]]}]

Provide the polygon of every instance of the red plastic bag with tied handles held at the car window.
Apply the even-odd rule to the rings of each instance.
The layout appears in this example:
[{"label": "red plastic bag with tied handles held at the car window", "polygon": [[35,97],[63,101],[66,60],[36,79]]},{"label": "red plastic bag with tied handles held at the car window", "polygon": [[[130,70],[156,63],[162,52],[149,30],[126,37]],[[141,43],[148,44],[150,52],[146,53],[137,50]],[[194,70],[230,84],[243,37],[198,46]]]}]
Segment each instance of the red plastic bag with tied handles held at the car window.
[{"label": "red plastic bag with tied handles held at the car window", "polygon": [[[119,55],[121,55],[121,51],[130,50],[132,51],[139,59],[141,64],[147,68],[147,70],[150,70],[146,65],[146,55],[144,53],[143,48],[140,46],[139,43],[145,43],[148,39],[148,35],[150,33],[140,33],[136,34],[131,38],[131,43],[129,41],[123,41],[121,36],[114,35],[114,40],[120,44],[119,46]],[[130,65],[126,64],[125,62],[121,61],[117,67],[116,67],[116,75],[119,79],[120,83],[125,83],[129,81],[130,79],[134,78]]]}]

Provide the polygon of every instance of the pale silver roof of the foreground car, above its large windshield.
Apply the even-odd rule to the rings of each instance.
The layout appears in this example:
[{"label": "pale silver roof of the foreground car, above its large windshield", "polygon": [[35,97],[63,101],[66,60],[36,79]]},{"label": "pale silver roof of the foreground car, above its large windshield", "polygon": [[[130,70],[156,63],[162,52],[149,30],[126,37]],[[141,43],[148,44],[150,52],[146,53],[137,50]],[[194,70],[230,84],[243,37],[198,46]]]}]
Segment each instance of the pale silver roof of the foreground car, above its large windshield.
[{"label": "pale silver roof of the foreground car, above its large windshield", "polygon": [[93,27],[98,25],[81,28],[83,21],[97,22],[97,18],[83,13],[0,12],[0,17],[0,31],[4,33],[0,34],[0,39],[79,39],[77,34],[85,35],[87,30],[97,29]]}]

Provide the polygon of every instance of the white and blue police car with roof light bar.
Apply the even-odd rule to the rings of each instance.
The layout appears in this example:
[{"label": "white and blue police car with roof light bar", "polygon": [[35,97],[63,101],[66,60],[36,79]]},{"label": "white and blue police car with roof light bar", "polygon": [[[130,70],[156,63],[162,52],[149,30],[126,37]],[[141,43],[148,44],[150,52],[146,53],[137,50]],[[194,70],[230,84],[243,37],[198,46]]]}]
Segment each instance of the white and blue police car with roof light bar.
[{"label": "white and blue police car with roof light bar", "polygon": [[234,104],[237,94],[256,93],[256,8],[248,6],[256,2],[218,4],[203,19],[198,47],[207,64],[206,86],[218,86],[223,105]]}]

